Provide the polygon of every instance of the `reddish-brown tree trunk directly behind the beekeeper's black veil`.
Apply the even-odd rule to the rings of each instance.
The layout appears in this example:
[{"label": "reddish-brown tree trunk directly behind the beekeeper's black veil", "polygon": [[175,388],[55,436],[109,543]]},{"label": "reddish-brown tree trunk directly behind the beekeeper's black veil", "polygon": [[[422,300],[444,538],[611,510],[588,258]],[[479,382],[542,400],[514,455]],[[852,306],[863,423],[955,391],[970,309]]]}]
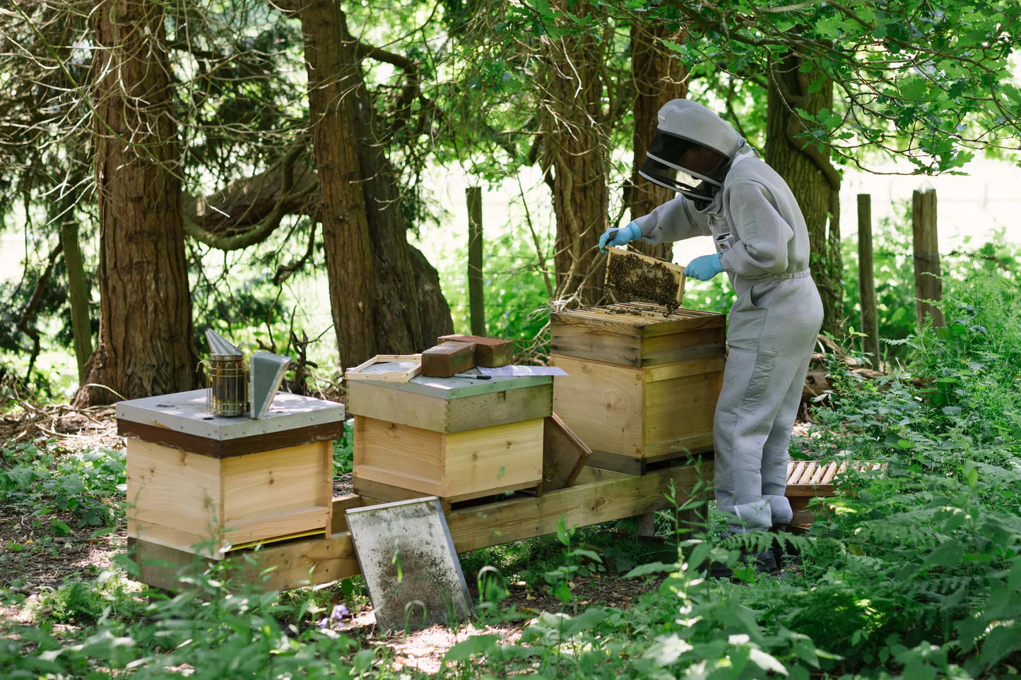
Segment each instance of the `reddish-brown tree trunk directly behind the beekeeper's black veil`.
[{"label": "reddish-brown tree trunk directly behind the beekeeper's black veil", "polygon": [[[638,175],[638,169],[645,162],[648,143],[659,125],[657,112],[671,99],[682,99],[688,93],[687,71],[680,60],[672,58],[670,51],[663,47],[664,40],[683,42],[684,32],[640,21],[631,25],[631,78],[635,88],[634,160],[631,183],[624,188],[624,201],[630,208],[632,220],[648,214],[677,195]],[[634,245],[639,251],[662,259],[669,260],[674,254],[674,244],[670,242],[651,245],[638,241]]]}]

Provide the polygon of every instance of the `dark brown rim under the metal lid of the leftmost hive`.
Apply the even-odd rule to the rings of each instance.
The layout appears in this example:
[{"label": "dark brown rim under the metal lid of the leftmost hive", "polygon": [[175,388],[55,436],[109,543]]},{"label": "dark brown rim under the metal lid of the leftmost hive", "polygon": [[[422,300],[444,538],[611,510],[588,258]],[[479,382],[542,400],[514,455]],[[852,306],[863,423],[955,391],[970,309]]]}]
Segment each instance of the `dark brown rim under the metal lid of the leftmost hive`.
[{"label": "dark brown rim under the metal lid of the leftmost hive", "polygon": [[333,423],[321,423],[303,428],[266,432],[251,437],[221,440],[180,432],[158,425],[117,419],[117,434],[121,437],[213,458],[248,455],[249,453],[300,446],[317,441],[332,441],[339,439],[343,433],[344,421],[341,419]]}]

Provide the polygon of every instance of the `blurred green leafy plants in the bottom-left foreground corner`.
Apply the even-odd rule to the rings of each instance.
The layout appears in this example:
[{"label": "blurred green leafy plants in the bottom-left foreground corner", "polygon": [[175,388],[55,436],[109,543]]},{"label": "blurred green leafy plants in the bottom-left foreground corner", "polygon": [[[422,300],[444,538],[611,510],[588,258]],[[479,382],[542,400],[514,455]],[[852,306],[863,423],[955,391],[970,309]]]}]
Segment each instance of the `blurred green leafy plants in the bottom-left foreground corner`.
[{"label": "blurred green leafy plants in the bottom-left foreground corner", "polygon": [[[349,638],[313,625],[318,610],[311,600],[292,597],[283,603],[276,592],[250,587],[231,592],[226,569],[194,571],[186,577],[193,589],[173,597],[114,591],[95,626],[83,628],[79,639],[67,639],[48,620],[39,627],[16,627],[14,636],[0,638],[0,672],[11,680],[100,678],[111,670],[116,677],[150,678],[177,677],[188,669],[189,677],[220,680],[350,678],[371,668],[372,652],[349,657],[354,646]],[[59,603],[61,613],[77,609],[93,616],[102,602],[89,594],[90,588],[104,591],[100,582],[69,584],[48,601]],[[139,600],[141,594],[149,601]],[[141,618],[121,618],[139,614],[140,608]]]}]

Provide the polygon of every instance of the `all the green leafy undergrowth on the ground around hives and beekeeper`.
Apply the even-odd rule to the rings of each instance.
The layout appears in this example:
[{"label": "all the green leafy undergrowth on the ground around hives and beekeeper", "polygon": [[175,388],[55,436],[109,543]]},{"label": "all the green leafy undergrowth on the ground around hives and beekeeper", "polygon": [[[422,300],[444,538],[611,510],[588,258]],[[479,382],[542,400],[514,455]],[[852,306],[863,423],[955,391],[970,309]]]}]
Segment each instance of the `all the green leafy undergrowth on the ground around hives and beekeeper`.
[{"label": "all the green leafy undergrowth on the ground around hives and beekeeper", "polygon": [[[709,579],[709,557],[733,561],[737,539],[702,532],[667,553],[626,549],[605,531],[556,536],[463,558],[478,573],[482,622],[507,620],[505,575],[560,597],[529,614],[519,640],[475,635],[446,653],[442,677],[992,678],[1021,668],[1021,291],[974,276],[944,301],[945,329],[907,339],[910,370],[866,381],[843,362],[800,443],[848,470],[819,501],[797,564],[779,576]],[[60,477],[38,475],[47,452],[5,452],[6,504],[63,507]],[[23,454],[23,455],[22,455]],[[89,456],[60,465],[86,487],[116,488]],[[54,463],[56,465],[56,463]],[[38,467],[38,466],[37,466]],[[32,483],[27,483],[32,469]],[[54,468],[56,470],[56,468]],[[62,470],[62,469],[61,469]],[[12,472],[15,471],[15,472]],[[91,472],[90,472],[91,471]],[[88,480],[86,482],[85,480]],[[49,485],[49,486],[47,486]],[[112,485],[112,486],[111,486]],[[44,488],[45,487],[45,488]],[[63,496],[60,494],[64,493]],[[110,498],[96,498],[117,512]],[[79,500],[75,506],[88,505]],[[92,515],[75,515],[91,522]],[[664,516],[669,517],[669,516]],[[663,521],[664,517],[661,517]],[[610,538],[607,539],[607,536]],[[745,541],[755,539],[746,538]],[[641,564],[644,563],[644,564]],[[0,633],[0,675],[39,677],[411,677],[382,645],[331,630],[336,589],[260,593],[229,585],[226,566],[193,570],[190,591],[108,573],[49,593],[37,625]],[[580,605],[563,584],[630,569],[646,587],[632,606]],[[233,593],[233,594],[232,594]],[[58,624],[75,622],[70,628]],[[324,625],[325,622],[325,625]]]}]

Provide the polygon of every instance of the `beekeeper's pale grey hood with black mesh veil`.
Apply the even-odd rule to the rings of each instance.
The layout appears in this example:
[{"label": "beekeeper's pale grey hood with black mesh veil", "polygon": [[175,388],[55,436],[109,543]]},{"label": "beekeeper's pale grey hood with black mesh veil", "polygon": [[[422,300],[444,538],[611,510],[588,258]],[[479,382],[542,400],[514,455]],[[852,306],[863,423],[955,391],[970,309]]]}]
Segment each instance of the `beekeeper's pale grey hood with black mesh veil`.
[{"label": "beekeeper's pale grey hood with black mesh veil", "polygon": [[[674,99],[664,104],[659,120],[655,137],[638,174],[699,203],[712,201],[723,186],[723,178],[734,157],[745,149],[750,150],[748,143],[729,123],[688,99]],[[684,153],[694,146],[713,149],[724,160],[709,173],[695,173],[680,162]]]}]

